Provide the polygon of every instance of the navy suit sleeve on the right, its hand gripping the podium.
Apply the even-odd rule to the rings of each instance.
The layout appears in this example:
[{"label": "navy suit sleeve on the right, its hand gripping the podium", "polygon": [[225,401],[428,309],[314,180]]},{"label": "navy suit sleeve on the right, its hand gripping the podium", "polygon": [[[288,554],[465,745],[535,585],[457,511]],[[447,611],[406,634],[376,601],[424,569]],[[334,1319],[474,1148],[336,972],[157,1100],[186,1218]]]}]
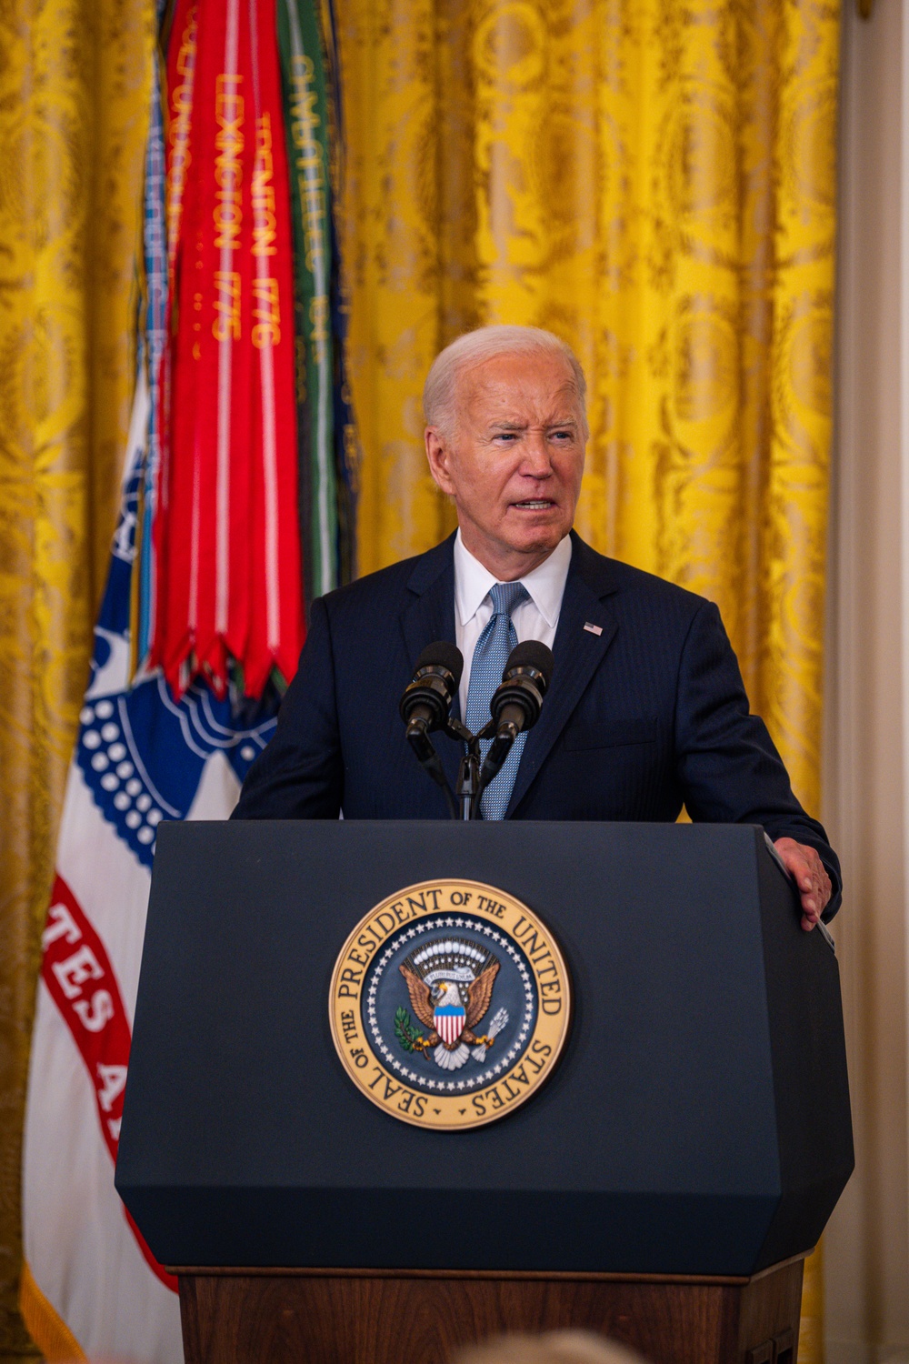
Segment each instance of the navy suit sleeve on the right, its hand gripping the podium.
[{"label": "navy suit sleeve on the right, its hand gripping the podium", "polygon": [[839,861],[823,827],[796,799],[763,720],[751,715],[739,662],[711,602],[694,617],[676,694],[676,764],[692,820],[760,824],[775,842],[814,847],[833,892],[823,918],[839,908]]}]

